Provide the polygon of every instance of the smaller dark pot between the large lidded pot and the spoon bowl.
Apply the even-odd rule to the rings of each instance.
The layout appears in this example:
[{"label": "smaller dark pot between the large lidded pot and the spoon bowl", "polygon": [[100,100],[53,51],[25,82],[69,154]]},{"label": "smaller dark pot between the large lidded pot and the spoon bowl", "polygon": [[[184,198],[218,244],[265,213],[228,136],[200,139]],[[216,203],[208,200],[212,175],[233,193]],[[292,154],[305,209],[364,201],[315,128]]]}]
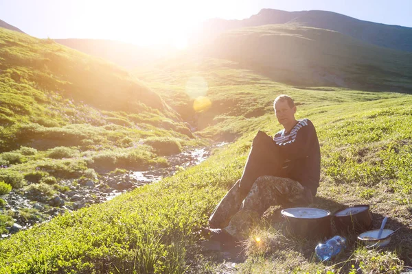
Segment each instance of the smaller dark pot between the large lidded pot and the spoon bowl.
[{"label": "smaller dark pot between the large lidded pot and the spoon bowl", "polygon": [[333,222],[339,232],[365,232],[371,229],[372,219],[369,205],[352,206],[333,214]]}]

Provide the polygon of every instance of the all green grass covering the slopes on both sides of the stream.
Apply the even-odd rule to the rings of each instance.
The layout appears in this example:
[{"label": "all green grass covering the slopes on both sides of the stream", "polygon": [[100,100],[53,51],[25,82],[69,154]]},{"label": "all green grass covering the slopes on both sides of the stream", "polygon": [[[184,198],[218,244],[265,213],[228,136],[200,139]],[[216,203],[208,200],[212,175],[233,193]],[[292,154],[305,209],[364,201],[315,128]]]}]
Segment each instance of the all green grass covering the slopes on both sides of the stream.
[{"label": "all green grass covering the slopes on both sides of the stream", "polygon": [[[242,174],[258,129],[268,134],[281,129],[272,103],[282,93],[293,96],[297,118],[310,119],[321,142],[321,186],[312,206],[333,212],[344,205],[368,203],[375,216],[390,216],[388,225],[411,225],[411,95],[286,86],[239,69],[236,62],[208,58],[177,58],[152,71],[136,72],[185,118],[194,115],[194,93],[186,84],[192,77],[204,79],[211,105],[193,121],[203,139],[192,138],[178,115],[160,99],[148,102],[157,95],[142,94],[148,88],[126,71],[50,40],[1,29],[0,35],[0,58],[7,60],[0,65],[5,71],[0,88],[6,91],[0,95],[5,102],[0,107],[0,163],[8,166],[0,169],[0,181],[13,188],[25,186],[27,180],[33,183],[25,186],[27,190],[53,195],[59,186],[46,184],[49,176],[58,181],[95,177],[98,169],[122,173],[120,169],[164,165],[159,144],[181,149],[205,144],[206,138],[235,140],[214,150],[202,164],[161,182],[1,240],[0,273],[218,269],[219,262],[197,248],[201,237],[196,232]],[[95,82],[98,86],[92,86]],[[111,95],[114,86],[124,92],[119,101]],[[130,103],[133,96],[145,99]],[[1,231],[12,225],[7,213],[0,214]],[[34,215],[23,210],[27,219]],[[240,264],[241,273],[370,273],[382,271],[382,266],[396,273],[402,264],[412,263],[410,230],[384,251],[366,251],[350,238],[338,258],[319,263],[313,255],[317,242],[285,238],[276,228],[271,216],[256,227],[253,234],[262,234],[270,245],[256,247],[251,234],[249,258]]]}]

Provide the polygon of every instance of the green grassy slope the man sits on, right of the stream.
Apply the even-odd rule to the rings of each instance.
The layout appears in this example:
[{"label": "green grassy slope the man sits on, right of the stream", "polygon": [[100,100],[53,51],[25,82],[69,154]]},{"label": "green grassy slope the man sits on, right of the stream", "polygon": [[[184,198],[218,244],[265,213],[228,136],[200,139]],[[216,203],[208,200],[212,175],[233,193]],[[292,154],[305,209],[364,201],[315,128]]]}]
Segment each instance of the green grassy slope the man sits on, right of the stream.
[{"label": "green grassy slope the man sits on, right of the stream", "polygon": [[[205,225],[216,203],[240,177],[255,132],[280,129],[269,106],[281,93],[295,97],[298,118],[311,119],[319,134],[322,178],[312,206],[333,211],[343,205],[369,203],[375,227],[383,216],[389,216],[389,228],[402,226],[404,230],[382,253],[365,251],[350,238],[345,253],[326,264],[313,258],[317,242],[287,239],[267,227],[273,221],[269,214],[255,234],[271,243],[258,245],[251,235],[247,242],[249,258],[238,264],[238,271],[347,273],[353,264],[365,273],[379,271],[381,265],[396,273],[400,260],[411,264],[412,97],[299,89],[258,76],[242,90],[240,82],[247,81],[247,71],[231,71],[243,77],[228,76],[229,71],[222,69],[214,78],[213,71],[205,75],[210,77],[209,83],[214,79],[212,88],[217,88],[222,79],[231,85],[223,85],[226,92],[213,95],[220,99],[216,111],[221,109],[222,115],[216,127],[205,127],[203,134],[219,135],[221,132],[215,129],[228,128],[239,136],[233,145],[157,184],[59,216],[1,241],[0,273],[216,273],[222,266],[199,251],[201,238],[193,232]],[[234,97],[235,101],[231,100]],[[251,103],[253,99],[255,103]],[[263,113],[247,117],[244,110]]]}]

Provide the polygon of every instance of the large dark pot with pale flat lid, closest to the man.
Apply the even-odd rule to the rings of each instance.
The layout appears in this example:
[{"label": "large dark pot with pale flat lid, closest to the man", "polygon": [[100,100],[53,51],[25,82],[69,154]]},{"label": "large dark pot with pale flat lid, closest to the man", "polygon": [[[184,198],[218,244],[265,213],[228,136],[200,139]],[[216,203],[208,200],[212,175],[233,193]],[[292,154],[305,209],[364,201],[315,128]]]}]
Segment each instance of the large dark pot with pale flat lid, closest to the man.
[{"label": "large dark pot with pale flat lid, closest to the man", "polygon": [[282,210],[286,234],[297,238],[330,237],[330,212],[319,208],[286,208]]}]

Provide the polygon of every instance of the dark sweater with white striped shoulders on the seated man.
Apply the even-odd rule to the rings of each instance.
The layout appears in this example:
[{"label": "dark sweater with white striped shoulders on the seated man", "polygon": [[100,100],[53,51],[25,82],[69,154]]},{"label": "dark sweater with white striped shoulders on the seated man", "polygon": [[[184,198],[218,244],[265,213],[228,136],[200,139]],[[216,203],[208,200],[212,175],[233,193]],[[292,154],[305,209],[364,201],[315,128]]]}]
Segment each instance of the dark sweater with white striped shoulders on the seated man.
[{"label": "dark sweater with white striped shoulders on the seated man", "polygon": [[284,160],[286,177],[309,188],[315,195],[321,175],[321,151],[316,130],[308,119],[298,121],[290,130],[277,132],[273,140]]}]

